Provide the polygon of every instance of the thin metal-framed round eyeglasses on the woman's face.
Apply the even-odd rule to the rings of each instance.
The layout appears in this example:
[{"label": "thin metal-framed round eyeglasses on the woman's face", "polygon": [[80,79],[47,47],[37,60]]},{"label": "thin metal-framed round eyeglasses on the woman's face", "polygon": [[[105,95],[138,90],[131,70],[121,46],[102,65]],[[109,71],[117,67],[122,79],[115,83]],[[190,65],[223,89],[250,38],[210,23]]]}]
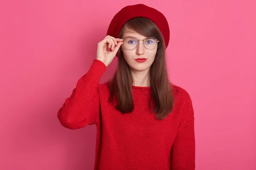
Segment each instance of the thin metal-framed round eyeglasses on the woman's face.
[{"label": "thin metal-framed round eyeglasses on the woman's face", "polygon": [[157,43],[159,42],[159,40],[153,37],[145,38],[144,40],[137,40],[133,37],[127,37],[122,41],[122,45],[124,45],[124,48],[126,50],[133,50],[137,47],[139,41],[143,41],[143,46],[148,50],[154,50],[155,48],[157,48]]}]

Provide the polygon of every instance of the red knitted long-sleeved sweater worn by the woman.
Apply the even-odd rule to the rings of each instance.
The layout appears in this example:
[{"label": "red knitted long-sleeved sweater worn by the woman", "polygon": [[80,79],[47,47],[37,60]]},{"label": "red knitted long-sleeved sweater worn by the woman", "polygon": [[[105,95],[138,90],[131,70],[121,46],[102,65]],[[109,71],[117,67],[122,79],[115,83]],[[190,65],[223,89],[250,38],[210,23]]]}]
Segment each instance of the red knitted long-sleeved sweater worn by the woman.
[{"label": "red knitted long-sleeved sweater worn by the woman", "polygon": [[61,125],[96,124],[94,170],[195,170],[194,111],[189,94],[174,86],[174,110],[164,120],[150,113],[150,87],[133,86],[134,111],[122,114],[108,102],[106,71],[95,59],[58,111]]}]

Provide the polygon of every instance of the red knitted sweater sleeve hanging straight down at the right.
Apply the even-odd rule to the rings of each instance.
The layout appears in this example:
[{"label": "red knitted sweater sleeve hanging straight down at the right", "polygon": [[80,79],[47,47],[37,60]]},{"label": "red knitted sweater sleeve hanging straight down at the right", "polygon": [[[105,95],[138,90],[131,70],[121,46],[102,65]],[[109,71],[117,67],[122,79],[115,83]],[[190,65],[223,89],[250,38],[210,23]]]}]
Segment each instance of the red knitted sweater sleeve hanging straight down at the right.
[{"label": "red knitted sweater sleeve hanging straight down at the right", "polygon": [[194,110],[189,94],[183,93],[180,125],[171,150],[171,170],[195,170]]}]

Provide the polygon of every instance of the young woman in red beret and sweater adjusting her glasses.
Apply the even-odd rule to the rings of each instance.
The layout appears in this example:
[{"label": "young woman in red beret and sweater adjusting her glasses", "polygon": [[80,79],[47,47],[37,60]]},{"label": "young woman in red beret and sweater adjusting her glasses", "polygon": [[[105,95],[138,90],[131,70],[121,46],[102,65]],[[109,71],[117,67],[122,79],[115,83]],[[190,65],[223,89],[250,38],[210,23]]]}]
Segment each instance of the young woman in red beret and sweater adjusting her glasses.
[{"label": "young woman in red beret and sweater adjusting her glasses", "polygon": [[[64,127],[97,126],[94,170],[195,170],[192,101],[169,81],[168,42],[162,13],[143,4],[122,8],[58,111]],[[115,56],[116,73],[99,84]]]}]

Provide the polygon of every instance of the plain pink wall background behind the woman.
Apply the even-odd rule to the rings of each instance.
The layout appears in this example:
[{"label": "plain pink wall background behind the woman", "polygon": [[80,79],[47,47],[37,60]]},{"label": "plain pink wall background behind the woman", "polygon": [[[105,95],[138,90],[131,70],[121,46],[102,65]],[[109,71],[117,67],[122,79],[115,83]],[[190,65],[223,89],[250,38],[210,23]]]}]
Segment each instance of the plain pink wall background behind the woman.
[{"label": "plain pink wall background behind the woman", "polygon": [[113,15],[135,3],[169,21],[171,79],[195,110],[196,170],[256,169],[255,1],[159,2],[1,1],[1,170],[93,169],[96,126],[69,130],[57,112],[96,58]]}]

